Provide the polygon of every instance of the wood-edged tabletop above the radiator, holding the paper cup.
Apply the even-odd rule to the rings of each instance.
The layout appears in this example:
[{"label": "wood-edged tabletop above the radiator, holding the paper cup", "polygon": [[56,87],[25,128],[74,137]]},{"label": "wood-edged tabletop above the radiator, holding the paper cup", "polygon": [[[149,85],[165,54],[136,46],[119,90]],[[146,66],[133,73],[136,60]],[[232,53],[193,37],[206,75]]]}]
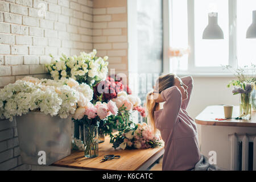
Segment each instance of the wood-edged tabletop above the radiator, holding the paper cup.
[{"label": "wood-edged tabletop above the radiator, holding the paper cup", "polygon": [[217,126],[242,126],[256,127],[256,111],[251,111],[251,119],[234,119],[239,116],[239,106],[233,107],[232,119],[217,121],[216,118],[224,118],[224,108],[222,105],[207,106],[196,117],[196,123],[199,125],[217,125]]}]

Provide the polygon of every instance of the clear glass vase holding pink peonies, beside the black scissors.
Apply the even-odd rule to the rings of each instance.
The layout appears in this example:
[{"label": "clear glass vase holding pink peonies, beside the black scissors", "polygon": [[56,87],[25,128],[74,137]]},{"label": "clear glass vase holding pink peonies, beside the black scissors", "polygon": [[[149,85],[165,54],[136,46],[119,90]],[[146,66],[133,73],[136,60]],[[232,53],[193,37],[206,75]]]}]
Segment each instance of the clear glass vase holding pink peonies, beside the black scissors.
[{"label": "clear glass vase holding pink peonies, beside the black scissors", "polygon": [[86,158],[98,156],[98,126],[84,125],[84,156]]}]

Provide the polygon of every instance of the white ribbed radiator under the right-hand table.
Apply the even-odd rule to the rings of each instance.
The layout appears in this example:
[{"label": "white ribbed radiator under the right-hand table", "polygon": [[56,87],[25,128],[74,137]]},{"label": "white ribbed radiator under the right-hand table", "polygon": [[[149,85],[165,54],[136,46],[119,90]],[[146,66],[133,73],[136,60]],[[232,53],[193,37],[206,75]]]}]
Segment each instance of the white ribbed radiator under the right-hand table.
[{"label": "white ribbed radiator under the right-hand table", "polygon": [[[229,135],[231,142],[231,170],[249,170],[249,163],[253,165],[253,171],[256,171],[256,135],[249,134],[231,134]],[[249,158],[249,142],[253,143],[253,157]]]}]

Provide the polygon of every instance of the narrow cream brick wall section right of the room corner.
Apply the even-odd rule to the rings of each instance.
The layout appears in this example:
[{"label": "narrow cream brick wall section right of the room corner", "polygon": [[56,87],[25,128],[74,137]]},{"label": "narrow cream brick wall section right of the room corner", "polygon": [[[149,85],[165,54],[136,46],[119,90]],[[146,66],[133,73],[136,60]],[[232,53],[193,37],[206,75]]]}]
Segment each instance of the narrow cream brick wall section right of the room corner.
[{"label": "narrow cream brick wall section right of the room corner", "polygon": [[109,73],[128,76],[127,0],[93,1],[93,48],[109,56]]}]

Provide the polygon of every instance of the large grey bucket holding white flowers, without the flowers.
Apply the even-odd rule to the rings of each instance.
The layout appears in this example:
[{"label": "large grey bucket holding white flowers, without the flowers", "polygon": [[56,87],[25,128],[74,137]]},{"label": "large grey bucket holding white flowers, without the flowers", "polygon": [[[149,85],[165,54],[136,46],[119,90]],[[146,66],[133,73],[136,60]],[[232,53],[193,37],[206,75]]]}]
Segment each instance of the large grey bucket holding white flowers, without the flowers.
[{"label": "large grey bucket holding white flowers, without the flowers", "polygon": [[31,111],[16,117],[24,164],[50,165],[71,154],[72,120]]}]

